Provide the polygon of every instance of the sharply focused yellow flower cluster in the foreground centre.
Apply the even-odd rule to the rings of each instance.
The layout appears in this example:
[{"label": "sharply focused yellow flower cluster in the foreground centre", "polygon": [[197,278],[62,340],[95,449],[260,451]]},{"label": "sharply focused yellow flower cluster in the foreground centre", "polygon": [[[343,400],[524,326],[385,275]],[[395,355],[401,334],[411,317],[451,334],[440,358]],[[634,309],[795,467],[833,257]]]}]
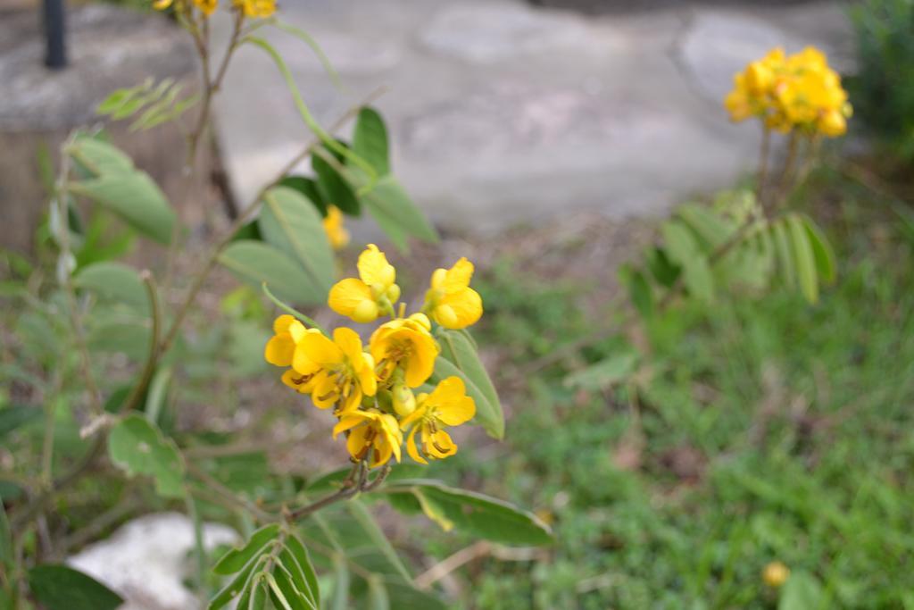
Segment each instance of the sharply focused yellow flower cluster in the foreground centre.
[{"label": "sharply focused yellow flower cluster in the foreground centre", "polygon": [[384,252],[369,244],[357,266],[357,278],[335,284],[329,305],[363,324],[390,316],[367,346],[351,328],[336,328],[326,337],[293,316],[280,316],[264,358],[286,368],[282,382],[310,395],[315,407],[333,408],[339,419],[334,437],[347,433],[353,459],[371,467],[387,464],[391,456],[399,462],[404,438],[409,456],[421,464],[454,455],[457,445],[445,428],[469,422],[476,405],[459,377],[426,385],[441,352],[431,330],[432,320],[463,328],[483,315],[483,301],[470,288],[473,263],[464,258],[433,273],[422,311],[411,316],[406,304],[396,305],[397,270]]}]

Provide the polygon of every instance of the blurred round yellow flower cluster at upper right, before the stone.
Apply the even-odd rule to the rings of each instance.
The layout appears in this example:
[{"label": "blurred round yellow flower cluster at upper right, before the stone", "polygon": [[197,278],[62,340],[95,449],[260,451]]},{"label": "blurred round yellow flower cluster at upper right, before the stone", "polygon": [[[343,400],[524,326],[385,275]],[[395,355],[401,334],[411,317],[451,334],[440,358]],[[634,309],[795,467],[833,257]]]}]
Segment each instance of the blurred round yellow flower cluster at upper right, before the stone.
[{"label": "blurred round yellow flower cluster at upper right, before the stone", "polygon": [[782,134],[797,129],[829,137],[845,134],[852,112],[841,77],[814,47],[790,56],[774,48],[749,63],[734,77],[724,106],[734,122],[759,117]]}]

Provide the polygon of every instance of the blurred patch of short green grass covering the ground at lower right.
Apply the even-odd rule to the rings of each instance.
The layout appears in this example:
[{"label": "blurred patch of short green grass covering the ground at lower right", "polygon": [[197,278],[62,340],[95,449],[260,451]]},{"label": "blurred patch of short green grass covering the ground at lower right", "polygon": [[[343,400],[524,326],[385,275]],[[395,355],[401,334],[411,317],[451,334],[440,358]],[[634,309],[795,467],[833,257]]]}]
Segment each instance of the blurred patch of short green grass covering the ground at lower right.
[{"label": "blurred patch of short green grass covering the ground at lower right", "polygon": [[[468,566],[462,607],[771,608],[783,590],[760,572],[778,560],[796,585],[812,577],[819,607],[914,608],[910,243],[884,202],[818,188],[844,206],[830,225],[841,275],[819,305],[776,291],[664,316],[638,391],[569,390],[579,361],[502,379],[521,390],[497,456],[436,468],[553,515],[557,543],[536,561]],[[481,290],[475,334],[517,368],[597,324],[576,313],[574,286],[518,280],[508,262]]]}]

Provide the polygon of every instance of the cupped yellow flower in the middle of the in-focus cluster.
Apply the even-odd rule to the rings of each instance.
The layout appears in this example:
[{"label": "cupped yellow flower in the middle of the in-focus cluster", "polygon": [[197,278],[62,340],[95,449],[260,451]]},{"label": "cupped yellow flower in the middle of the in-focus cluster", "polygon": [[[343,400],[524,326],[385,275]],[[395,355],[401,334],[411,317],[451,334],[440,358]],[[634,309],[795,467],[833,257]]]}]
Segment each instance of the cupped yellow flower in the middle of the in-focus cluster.
[{"label": "cupped yellow flower in the middle of the in-focus cluster", "polygon": [[410,388],[425,383],[440,351],[430,330],[431,323],[425,314],[413,314],[378,326],[369,342],[371,356],[377,362],[377,376],[389,380],[394,369],[400,367]]}]

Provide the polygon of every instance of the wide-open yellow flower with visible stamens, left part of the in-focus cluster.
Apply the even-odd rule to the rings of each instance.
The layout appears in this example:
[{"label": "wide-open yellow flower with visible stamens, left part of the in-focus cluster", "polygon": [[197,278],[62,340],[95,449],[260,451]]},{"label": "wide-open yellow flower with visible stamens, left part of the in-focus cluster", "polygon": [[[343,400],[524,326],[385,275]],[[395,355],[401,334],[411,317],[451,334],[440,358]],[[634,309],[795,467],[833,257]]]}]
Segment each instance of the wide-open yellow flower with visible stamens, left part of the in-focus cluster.
[{"label": "wide-open yellow flower with visible stamens, left part of the in-focus cluster", "polygon": [[321,333],[305,333],[300,346],[308,365],[295,371],[318,409],[342,403],[337,411],[349,412],[363,396],[377,392],[375,361],[362,351],[362,339],[351,328],[336,328],[332,341]]}]

